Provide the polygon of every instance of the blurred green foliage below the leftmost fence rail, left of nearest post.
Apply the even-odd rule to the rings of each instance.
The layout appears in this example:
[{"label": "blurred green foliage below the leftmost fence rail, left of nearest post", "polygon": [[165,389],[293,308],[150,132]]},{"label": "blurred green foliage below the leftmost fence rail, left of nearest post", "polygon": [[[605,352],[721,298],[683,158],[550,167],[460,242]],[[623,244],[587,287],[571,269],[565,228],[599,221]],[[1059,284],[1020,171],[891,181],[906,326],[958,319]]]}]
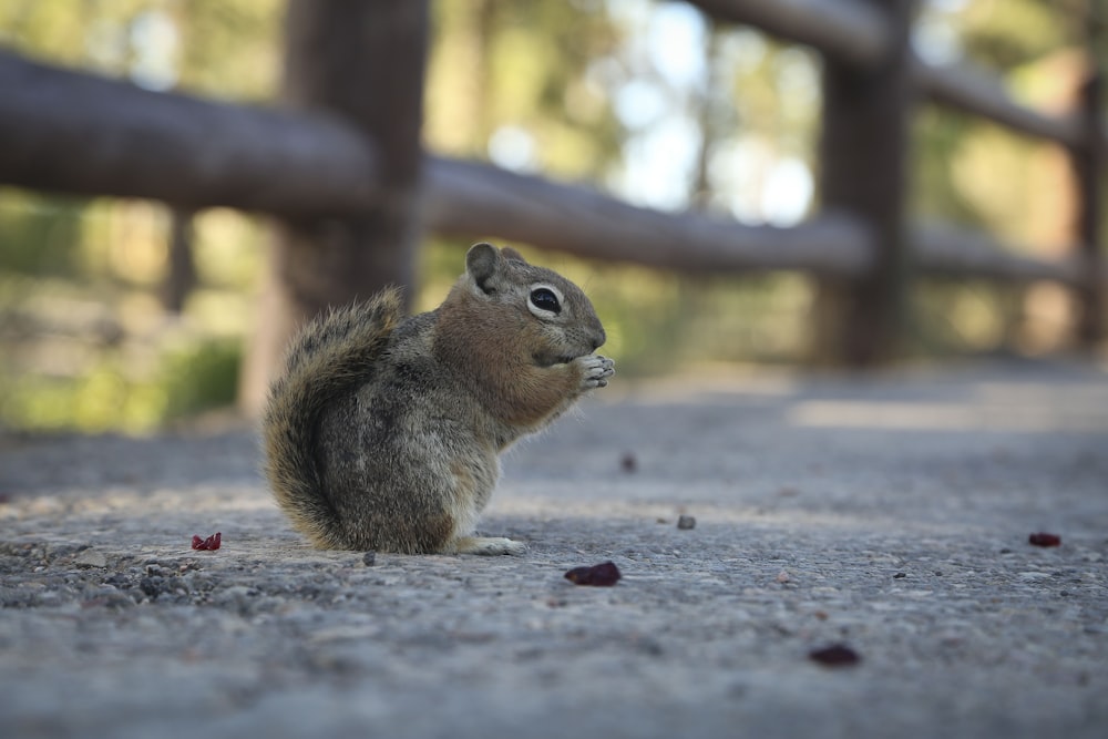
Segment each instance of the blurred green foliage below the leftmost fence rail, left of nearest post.
[{"label": "blurred green foliage below the leftmost fence rail, left of nearest post", "polygon": [[173,322],[148,273],[165,267],[162,208],[0,192],[0,428],[144,432],[234,402],[258,225],[213,211],[196,226],[209,286]]}]

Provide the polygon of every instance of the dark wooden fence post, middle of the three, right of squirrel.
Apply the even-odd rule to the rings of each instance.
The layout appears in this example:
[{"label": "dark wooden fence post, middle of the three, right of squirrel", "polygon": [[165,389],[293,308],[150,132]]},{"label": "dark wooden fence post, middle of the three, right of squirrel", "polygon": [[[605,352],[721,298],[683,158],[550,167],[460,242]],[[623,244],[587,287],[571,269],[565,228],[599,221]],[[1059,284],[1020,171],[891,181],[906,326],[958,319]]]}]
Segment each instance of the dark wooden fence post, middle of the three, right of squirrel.
[{"label": "dark wooden fence post, middle of the three, right of squirrel", "polygon": [[904,196],[911,89],[910,0],[865,0],[890,22],[886,59],[858,66],[824,55],[820,192],[825,211],[847,211],[872,230],[873,267],[823,279],[817,297],[817,360],[868,367],[897,353],[909,286]]}]

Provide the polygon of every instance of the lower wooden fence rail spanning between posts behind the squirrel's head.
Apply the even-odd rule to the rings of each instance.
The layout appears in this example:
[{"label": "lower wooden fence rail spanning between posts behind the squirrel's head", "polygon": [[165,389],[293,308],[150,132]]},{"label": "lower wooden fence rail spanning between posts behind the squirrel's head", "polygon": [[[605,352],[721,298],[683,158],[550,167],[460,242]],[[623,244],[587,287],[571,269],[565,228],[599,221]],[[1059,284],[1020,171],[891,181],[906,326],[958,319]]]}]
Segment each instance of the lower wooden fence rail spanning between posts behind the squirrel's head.
[{"label": "lower wooden fence rail spanning between posts behind the squirrel's head", "polygon": [[871,264],[865,224],[825,214],[807,224],[746,226],[696,213],[627,205],[586,187],[432,157],[425,170],[432,230],[501,238],[583,257],[684,271],[799,269],[854,276]]}]

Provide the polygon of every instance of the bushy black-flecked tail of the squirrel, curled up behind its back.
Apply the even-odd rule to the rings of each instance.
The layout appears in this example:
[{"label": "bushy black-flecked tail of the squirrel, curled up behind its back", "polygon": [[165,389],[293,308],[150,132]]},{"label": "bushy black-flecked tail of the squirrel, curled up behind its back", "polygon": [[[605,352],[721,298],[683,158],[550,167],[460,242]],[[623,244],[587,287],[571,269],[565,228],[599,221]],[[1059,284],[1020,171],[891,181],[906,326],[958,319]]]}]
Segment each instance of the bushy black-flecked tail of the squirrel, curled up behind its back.
[{"label": "bushy black-flecked tail of the squirrel, curled up behind its back", "polygon": [[387,288],[314,320],[290,342],[284,371],[269,388],[261,419],[266,478],[277,503],[316,546],[346,548],[316,462],[319,417],[373,371],[402,304],[400,290]]}]

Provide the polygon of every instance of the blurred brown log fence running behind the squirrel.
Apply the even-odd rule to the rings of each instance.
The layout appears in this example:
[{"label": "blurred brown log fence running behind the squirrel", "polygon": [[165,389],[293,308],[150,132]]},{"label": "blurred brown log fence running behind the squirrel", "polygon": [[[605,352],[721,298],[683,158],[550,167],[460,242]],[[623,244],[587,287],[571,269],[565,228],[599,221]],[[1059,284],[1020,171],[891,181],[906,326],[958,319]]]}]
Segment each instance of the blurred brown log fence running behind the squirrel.
[{"label": "blurred brown log fence running behind the squirrel", "polygon": [[[819,311],[824,350],[850,366],[895,355],[906,288],[927,273],[1056,280],[1078,297],[1077,340],[1102,341],[1108,269],[1098,206],[1108,130],[1094,54],[1081,105],[1049,115],[1016,104],[979,71],[916,59],[909,0],[690,1],[718,21],[822,53],[822,202],[808,223],[752,227],[664,214],[425,154],[424,0],[290,0],[277,110],[151,92],[0,51],[0,182],[277,216],[244,383],[255,399],[298,322],[328,304],[411,281],[421,229],[671,269],[803,270],[829,301]],[[1098,28],[1091,18],[1087,25]],[[1078,209],[1068,256],[1020,255],[984,234],[905,222],[909,124],[921,100],[1069,152]]]}]

